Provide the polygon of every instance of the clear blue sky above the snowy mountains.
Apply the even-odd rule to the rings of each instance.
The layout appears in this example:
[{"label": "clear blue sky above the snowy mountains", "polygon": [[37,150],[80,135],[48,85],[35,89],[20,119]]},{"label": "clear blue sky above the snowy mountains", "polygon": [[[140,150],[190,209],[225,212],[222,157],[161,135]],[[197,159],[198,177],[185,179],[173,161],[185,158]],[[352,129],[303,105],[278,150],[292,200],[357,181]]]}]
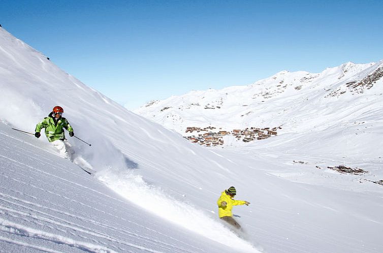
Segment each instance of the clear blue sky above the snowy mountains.
[{"label": "clear blue sky above the snowy mountains", "polygon": [[383,1],[2,1],[0,24],[129,109],[383,59]]}]

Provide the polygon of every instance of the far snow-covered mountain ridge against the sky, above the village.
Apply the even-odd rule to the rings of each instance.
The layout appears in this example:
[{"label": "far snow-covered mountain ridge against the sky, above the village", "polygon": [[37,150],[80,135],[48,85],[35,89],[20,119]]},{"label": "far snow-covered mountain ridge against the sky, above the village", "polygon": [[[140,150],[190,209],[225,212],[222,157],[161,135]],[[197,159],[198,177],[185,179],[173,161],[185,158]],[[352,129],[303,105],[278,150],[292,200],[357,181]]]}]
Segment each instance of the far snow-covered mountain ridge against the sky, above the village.
[{"label": "far snow-covered mountain ridge against the sky, above the village", "polygon": [[322,107],[318,116],[325,117],[324,107],[332,107],[339,101],[352,105],[354,98],[363,97],[364,92],[377,103],[383,90],[382,66],[383,60],[368,64],[349,61],[321,73],[281,71],[249,85],[193,90],[166,100],[151,101],[134,112],[182,135],[187,127],[213,126],[229,130],[278,127],[291,122],[283,117],[291,110],[306,108],[318,114],[317,109]]}]

